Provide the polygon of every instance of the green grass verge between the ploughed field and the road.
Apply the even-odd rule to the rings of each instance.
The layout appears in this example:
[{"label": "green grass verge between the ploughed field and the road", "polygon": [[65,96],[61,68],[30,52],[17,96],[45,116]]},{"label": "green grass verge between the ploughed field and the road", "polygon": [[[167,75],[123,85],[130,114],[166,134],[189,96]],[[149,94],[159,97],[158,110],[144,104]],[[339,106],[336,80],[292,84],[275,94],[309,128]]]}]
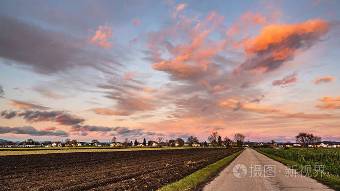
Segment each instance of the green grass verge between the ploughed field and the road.
[{"label": "green grass verge between the ploughed field and the road", "polygon": [[244,151],[244,149],[245,148],[213,164],[210,164],[207,167],[198,170],[195,173],[188,175],[181,180],[178,180],[167,186],[159,188],[158,191],[184,191],[193,189],[197,187],[197,185],[204,183],[209,178],[209,176],[212,175],[214,172],[221,169],[223,166],[225,166],[226,164],[230,163],[233,159],[238,157],[238,155],[241,154]]}]

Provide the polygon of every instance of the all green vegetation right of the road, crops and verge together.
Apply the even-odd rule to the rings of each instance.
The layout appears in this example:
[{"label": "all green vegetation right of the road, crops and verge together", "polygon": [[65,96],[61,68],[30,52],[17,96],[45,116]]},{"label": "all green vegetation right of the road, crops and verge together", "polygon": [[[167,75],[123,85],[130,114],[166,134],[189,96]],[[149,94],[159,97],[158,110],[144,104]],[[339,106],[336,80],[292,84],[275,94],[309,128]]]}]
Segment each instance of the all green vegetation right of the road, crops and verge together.
[{"label": "all green vegetation right of the road, crops and verge together", "polygon": [[[311,166],[312,178],[340,191],[340,153],[334,149],[272,149],[254,148],[274,160],[303,171],[305,165]],[[314,170],[315,165],[324,165],[324,174]]]}]

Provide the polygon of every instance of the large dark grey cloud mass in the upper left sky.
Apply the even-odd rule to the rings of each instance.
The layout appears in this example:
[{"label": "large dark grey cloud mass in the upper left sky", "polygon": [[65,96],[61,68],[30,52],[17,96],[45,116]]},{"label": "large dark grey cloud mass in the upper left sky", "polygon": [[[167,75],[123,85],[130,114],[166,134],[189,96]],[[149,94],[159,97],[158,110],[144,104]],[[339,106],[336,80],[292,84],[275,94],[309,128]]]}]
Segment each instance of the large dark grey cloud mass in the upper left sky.
[{"label": "large dark grey cloud mass in the upper left sky", "polygon": [[[83,48],[85,39],[0,15],[0,57],[3,64],[24,66],[40,74],[69,71],[78,66],[90,66],[110,73],[112,65],[119,65],[112,56]],[[20,30],[18,30],[20,29]],[[100,38],[96,38],[98,41]],[[36,54],[39,56],[36,56]]]}]

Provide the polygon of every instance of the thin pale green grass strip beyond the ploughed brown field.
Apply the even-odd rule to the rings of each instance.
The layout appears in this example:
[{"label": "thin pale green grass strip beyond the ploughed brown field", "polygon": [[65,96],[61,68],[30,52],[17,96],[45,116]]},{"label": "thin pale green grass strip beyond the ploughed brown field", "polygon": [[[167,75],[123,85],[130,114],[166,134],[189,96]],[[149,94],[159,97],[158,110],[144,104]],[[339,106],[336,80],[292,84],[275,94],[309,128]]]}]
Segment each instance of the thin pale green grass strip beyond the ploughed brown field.
[{"label": "thin pale green grass strip beyond the ploughed brown field", "polygon": [[[166,150],[166,149],[188,149],[188,148],[203,148],[203,147],[139,147],[139,148],[110,148],[110,147],[102,147],[96,149],[88,149],[89,147],[78,147],[78,149],[70,149],[75,147],[59,147],[63,149],[38,149],[38,150],[32,150],[32,148],[24,148],[25,150],[6,150],[1,149],[0,150],[0,156],[6,156],[6,155],[35,155],[35,154],[50,154],[50,153],[79,153],[79,152],[115,152],[115,151],[141,151],[141,150]],[[68,149],[66,149],[68,148]],[[80,148],[80,149],[79,149]],[[86,148],[86,149],[84,149]]]}]

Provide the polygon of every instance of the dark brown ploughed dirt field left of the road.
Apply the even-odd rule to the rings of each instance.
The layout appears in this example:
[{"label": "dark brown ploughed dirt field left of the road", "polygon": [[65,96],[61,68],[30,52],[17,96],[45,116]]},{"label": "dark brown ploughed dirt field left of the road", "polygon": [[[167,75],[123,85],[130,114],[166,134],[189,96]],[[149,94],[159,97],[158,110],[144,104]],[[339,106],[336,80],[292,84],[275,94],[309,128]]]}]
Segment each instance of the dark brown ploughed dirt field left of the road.
[{"label": "dark brown ploughed dirt field left of the road", "polygon": [[239,150],[0,156],[0,190],[157,190]]}]

